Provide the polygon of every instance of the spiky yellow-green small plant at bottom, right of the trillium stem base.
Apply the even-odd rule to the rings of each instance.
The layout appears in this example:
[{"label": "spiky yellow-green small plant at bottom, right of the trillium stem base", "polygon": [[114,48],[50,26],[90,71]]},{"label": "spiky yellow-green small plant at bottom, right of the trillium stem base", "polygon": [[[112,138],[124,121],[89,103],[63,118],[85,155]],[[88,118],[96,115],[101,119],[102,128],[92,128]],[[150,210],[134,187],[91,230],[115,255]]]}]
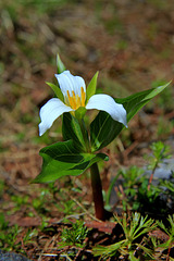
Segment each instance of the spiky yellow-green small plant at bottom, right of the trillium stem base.
[{"label": "spiky yellow-green small plant at bottom, right of the trillium stem base", "polygon": [[100,260],[122,257],[124,260],[137,261],[139,260],[139,250],[141,250],[147,257],[151,258],[152,252],[145,246],[144,236],[157,226],[153,220],[148,219],[148,216],[144,217],[137,212],[132,217],[124,214],[123,219],[115,216],[115,220],[123,229],[123,236],[110,246],[95,247],[92,249],[94,254],[96,257],[100,256]]}]

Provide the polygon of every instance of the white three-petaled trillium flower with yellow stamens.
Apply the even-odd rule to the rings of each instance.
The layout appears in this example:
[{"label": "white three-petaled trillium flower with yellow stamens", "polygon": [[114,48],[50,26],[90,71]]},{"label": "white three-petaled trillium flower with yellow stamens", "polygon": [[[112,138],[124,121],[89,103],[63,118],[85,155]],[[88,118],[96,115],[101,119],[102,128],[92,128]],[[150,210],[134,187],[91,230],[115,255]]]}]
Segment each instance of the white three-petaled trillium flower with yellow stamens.
[{"label": "white three-petaled trillium flower with yellow stamens", "polygon": [[[79,76],[73,76],[70,71],[55,74],[64,100],[59,98],[50,99],[40,109],[41,123],[39,124],[39,135],[46,133],[53,122],[64,112],[76,111],[79,107],[87,110],[97,109],[108,112],[114,121],[126,125],[126,110],[108,95],[94,95],[86,99],[85,80]],[[58,87],[59,88],[59,87]]]}]

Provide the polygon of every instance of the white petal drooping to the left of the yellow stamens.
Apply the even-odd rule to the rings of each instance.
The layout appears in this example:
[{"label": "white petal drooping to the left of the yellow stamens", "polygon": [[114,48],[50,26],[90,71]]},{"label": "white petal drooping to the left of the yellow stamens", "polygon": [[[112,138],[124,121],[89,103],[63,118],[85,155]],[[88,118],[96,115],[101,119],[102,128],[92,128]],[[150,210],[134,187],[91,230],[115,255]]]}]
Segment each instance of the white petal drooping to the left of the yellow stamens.
[{"label": "white petal drooping to the left of the yellow stamens", "polygon": [[62,115],[64,112],[73,111],[72,108],[65,105],[60,99],[52,98],[40,109],[39,136],[41,136],[48,128],[52,126],[52,123]]}]

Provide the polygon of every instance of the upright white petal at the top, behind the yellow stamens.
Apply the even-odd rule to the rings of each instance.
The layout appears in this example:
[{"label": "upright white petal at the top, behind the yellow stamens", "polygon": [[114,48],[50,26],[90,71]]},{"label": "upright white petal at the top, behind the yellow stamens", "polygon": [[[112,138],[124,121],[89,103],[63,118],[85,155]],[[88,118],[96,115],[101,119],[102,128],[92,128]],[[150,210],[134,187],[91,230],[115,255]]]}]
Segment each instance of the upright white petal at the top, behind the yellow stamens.
[{"label": "upright white petal at the top, behind the yellow stamens", "polygon": [[85,80],[80,76],[74,76],[70,71],[64,71],[61,74],[55,74],[55,77],[64,96],[67,96],[67,90],[70,94],[74,90],[75,95],[80,97],[80,87],[86,92]]}]

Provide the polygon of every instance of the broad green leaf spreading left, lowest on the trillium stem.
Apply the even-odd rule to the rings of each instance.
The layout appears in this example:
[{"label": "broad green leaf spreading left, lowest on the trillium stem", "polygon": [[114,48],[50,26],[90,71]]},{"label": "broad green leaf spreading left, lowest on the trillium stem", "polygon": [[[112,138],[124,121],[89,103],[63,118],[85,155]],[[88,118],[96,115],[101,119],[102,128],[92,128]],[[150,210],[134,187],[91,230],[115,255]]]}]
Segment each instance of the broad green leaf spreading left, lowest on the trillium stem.
[{"label": "broad green leaf spreading left, lowest on the trillium stem", "polygon": [[80,175],[94,163],[108,160],[102,153],[82,153],[73,140],[57,142],[40,150],[44,159],[40,174],[32,183],[50,183],[66,175]]}]

